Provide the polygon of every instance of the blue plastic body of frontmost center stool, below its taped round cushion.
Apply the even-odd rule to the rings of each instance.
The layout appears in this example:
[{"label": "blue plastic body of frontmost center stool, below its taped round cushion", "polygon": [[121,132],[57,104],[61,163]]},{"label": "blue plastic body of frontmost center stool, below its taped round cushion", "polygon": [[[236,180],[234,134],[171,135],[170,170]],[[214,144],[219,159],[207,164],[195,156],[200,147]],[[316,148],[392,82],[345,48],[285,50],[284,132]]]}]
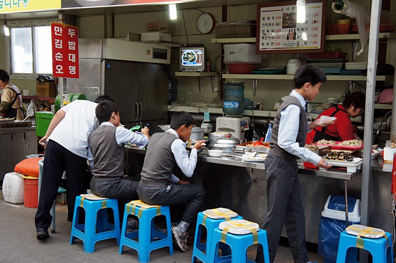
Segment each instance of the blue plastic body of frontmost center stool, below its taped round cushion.
[{"label": "blue plastic body of frontmost center stool, below its taped round cushion", "polygon": [[[231,247],[231,255],[225,257],[218,257],[217,251],[219,249],[219,243],[225,243]],[[259,229],[257,231],[257,241],[253,241],[253,235],[251,233],[245,235],[235,235],[227,233],[225,237],[225,242],[222,240],[222,230],[220,228],[215,228],[213,232],[213,245],[211,247],[212,259],[211,263],[254,263],[247,259],[247,248],[254,245],[261,244],[264,251],[264,262],[269,263],[269,253],[268,253],[268,241],[267,232],[264,229]]]}]

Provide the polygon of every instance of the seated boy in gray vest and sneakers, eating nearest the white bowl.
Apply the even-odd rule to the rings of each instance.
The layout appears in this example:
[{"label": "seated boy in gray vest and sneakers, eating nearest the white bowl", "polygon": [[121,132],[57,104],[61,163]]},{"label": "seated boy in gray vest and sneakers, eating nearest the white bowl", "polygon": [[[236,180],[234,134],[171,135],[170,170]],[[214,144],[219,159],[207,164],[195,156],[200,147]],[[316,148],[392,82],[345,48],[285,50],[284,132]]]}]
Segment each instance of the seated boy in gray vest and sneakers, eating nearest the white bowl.
[{"label": "seated boy in gray vest and sneakers, eating nearest the white bowl", "polygon": [[190,113],[177,112],[172,116],[168,131],[151,136],[137,190],[139,198],[150,205],[186,204],[182,221],[172,226],[175,242],[183,252],[189,249],[187,228],[196,218],[205,196],[203,187],[173,175],[176,165],[187,177],[194,174],[197,150],[202,148],[204,140],[194,144],[189,157],[185,142],[190,138],[193,125]]}]

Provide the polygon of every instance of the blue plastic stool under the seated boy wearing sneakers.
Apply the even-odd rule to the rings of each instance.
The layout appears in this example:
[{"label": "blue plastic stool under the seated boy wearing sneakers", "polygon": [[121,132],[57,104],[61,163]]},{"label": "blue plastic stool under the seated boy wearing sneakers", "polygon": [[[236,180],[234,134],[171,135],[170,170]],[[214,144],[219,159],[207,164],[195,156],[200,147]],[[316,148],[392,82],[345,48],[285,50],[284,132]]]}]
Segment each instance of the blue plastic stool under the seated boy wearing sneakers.
[{"label": "blue plastic stool under the seated boy wearing sneakers", "polygon": [[[127,233],[128,215],[139,218],[138,230],[130,233]],[[165,216],[167,233],[162,233],[154,228],[154,218],[157,216]],[[138,238],[137,241],[134,240],[136,238]],[[154,238],[158,238],[158,240],[154,240]],[[150,206],[140,200],[126,204],[122,221],[120,254],[122,254],[124,246],[138,252],[138,262],[140,263],[149,262],[150,252],[159,248],[169,247],[169,255],[173,255],[169,206]]]}]

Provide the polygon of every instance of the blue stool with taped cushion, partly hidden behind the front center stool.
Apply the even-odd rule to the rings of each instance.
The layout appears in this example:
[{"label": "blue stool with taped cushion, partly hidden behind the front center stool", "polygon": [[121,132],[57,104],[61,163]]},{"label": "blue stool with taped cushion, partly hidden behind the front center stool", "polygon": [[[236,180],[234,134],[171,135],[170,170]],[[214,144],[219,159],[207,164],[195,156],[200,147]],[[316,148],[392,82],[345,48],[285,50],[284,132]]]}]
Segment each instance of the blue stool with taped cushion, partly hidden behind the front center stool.
[{"label": "blue stool with taped cushion, partly hidden behind the front center stool", "polygon": [[[226,220],[243,219],[237,213],[227,208],[208,209],[198,213],[197,226],[195,230],[194,250],[192,262],[212,262],[210,251],[212,247],[213,230]],[[206,228],[206,243],[201,243],[202,228]],[[228,246],[221,246],[223,256],[229,255]]]}]

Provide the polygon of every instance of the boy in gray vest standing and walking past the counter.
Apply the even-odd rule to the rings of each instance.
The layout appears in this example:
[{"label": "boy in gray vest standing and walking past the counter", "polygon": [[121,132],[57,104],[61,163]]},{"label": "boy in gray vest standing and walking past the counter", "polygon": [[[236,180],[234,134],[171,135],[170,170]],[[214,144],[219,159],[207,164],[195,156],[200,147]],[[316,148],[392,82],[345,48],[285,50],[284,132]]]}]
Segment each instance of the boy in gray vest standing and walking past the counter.
[{"label": "boy in gray vest standing and walking past the counter", "polygon": [[[279,107],[274,119],[271,149],[264,163],[268,213],[263,228],[267,231],[271,263],[275,259],[283,224],[294,262],[309,262],[305,247],[305,219],[300,198],[297,158],[325,169],[331,167],[320,156],[304,148],[308,130],[334,123],[322,123],[319,119],[309,125],[307,123],[305,99],[312,101],[325,82],[326,75],[320,68],[313,65],[298,68],[294,76],[295,89]],[[261,246],[257,248],[256,262],[264,263]]]}]

